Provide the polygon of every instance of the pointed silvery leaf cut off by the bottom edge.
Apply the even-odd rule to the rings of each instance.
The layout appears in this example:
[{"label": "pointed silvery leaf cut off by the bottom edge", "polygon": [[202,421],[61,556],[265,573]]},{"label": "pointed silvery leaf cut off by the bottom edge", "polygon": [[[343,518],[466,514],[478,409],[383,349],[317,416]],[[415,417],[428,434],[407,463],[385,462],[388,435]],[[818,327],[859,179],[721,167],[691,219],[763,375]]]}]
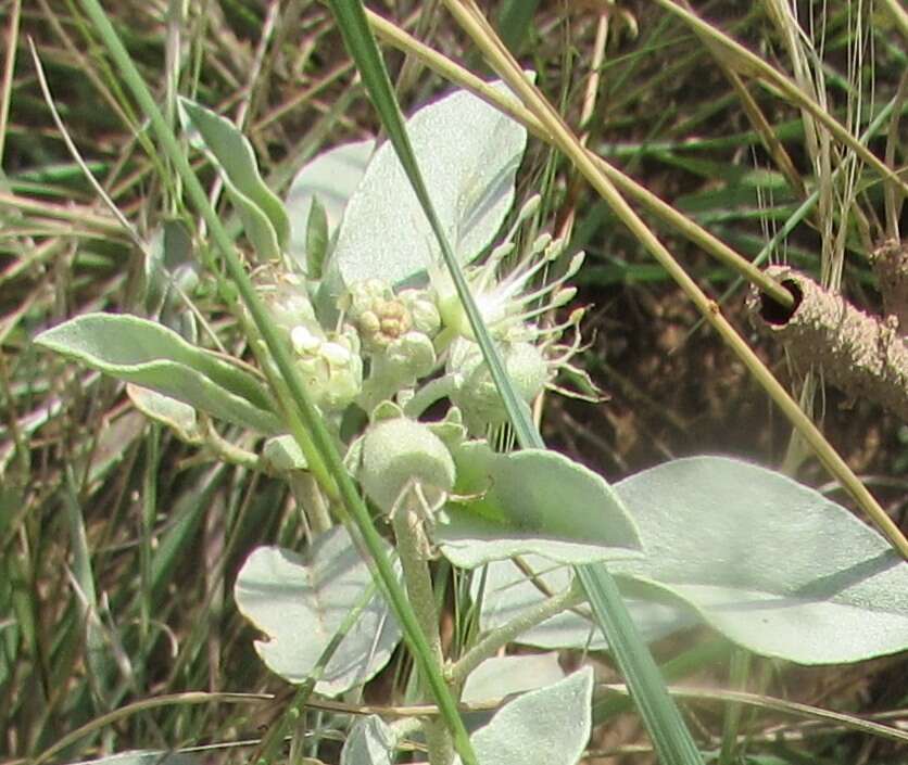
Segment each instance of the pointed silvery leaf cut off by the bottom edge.
[{"label": "pointed silvery leaf cut off by the bottom edge", "polygon": [[505,704],[470,736],[480,765],[576,765],[590,739],[593,671]]}]

